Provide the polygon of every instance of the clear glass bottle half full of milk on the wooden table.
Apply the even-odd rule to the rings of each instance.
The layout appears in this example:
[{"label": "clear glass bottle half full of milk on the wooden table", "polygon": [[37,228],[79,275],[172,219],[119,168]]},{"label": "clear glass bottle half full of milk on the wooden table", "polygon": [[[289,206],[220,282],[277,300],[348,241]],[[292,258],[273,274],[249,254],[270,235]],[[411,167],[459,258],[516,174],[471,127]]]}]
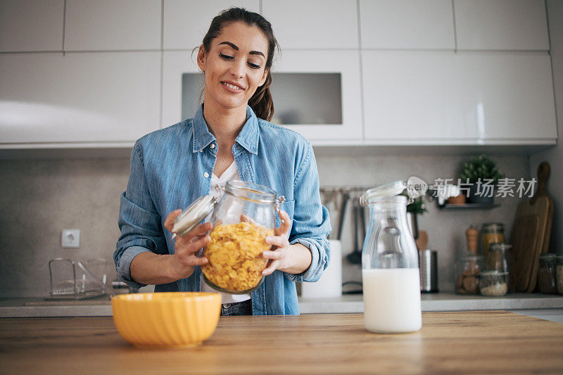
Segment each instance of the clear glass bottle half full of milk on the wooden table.
[{"label": "clear glass bottle half full of milk on the wooden table", "polygon": [[404,333],[422,326],[417,246],[405,196],[362,196],[369,229],[362,250],[364,324],[368,331]]}]

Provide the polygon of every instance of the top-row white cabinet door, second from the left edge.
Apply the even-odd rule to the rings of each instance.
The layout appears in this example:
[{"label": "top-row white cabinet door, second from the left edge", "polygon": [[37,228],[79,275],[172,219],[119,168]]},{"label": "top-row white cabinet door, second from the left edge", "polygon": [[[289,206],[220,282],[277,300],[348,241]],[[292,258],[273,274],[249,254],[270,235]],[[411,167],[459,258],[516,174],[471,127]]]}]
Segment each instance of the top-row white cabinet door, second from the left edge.
[{"label": "top-row white cabinet door, second from the left edge", "polygon": [[160,49],[160,1],[66,0],[65,51]]}]

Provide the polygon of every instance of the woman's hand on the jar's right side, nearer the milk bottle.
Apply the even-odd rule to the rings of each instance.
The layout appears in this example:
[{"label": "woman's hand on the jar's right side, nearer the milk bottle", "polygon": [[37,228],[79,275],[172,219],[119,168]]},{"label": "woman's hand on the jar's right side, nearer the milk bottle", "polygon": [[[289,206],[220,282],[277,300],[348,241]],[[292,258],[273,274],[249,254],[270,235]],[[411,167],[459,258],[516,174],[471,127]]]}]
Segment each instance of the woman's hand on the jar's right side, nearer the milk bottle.
[{"label": "woman's hand on the jar's right side, nearer the milk bottle", "polygon": [[301,274],[311,265],[311,251],[301,243],[290,245],[288,241],[291,230],[291,219],[284,210],[279,211],[282,220],[279,228],[274,229],[274,236],[267,236],[266,242],[274,246],[274,250],[265,250],[262,254],[269,259],[262,274],[267,276],[276,269],[289,274]]}]

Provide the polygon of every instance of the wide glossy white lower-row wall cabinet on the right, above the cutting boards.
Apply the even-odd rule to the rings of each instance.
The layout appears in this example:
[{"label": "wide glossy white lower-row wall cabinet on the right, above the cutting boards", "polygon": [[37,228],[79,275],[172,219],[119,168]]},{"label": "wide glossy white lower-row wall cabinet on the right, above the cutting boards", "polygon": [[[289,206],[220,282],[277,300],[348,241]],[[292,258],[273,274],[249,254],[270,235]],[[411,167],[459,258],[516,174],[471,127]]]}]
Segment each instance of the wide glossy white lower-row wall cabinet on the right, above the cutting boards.
[{"label": "wide glossy white lower-row wall cabinet on the right, above the cutting boards", "polygon": [[362,53],[365,135],[381,144],[550,144],[544,53]]}]

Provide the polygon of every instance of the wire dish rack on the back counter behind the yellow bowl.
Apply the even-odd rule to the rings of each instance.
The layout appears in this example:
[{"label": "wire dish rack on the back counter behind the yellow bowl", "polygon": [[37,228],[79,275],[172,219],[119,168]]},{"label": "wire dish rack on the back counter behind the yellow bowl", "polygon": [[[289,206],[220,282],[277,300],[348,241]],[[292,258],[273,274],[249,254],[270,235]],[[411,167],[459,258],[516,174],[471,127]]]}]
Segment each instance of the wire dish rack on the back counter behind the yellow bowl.
[{"label": "wire dish rack on the back counter behind the yellow bowl", "polygon": [[103,258],[91,258],[84,262],[75,262],[65,258],[49,260],[51,295],[44,299],[84,300],[103,295],[115,295],[113,290],[106,285],[105,269],[107,266],[108,261]]}]

